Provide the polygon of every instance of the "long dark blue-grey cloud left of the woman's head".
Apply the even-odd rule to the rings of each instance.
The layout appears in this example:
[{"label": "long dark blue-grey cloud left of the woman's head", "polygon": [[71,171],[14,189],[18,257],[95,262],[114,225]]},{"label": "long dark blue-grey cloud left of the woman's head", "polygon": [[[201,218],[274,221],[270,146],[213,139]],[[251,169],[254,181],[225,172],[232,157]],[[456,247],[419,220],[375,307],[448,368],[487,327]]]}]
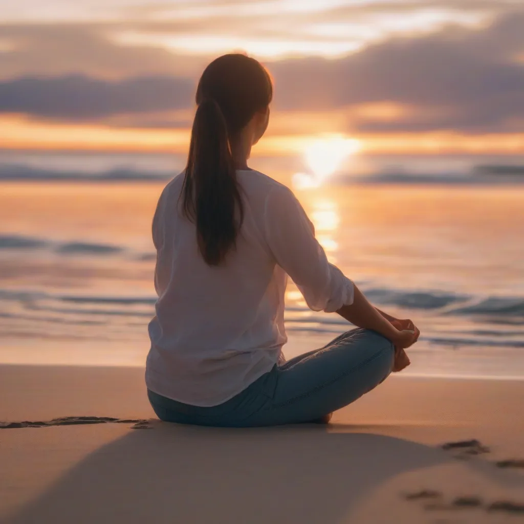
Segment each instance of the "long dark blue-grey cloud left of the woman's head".
[{"label": "long dark blue-grey cloud left of the woman's head", "polygon": [[144,77],[118,82],[80,75],[0,82],[0,112],[58,119],[96,119],[191,105],[194,83],[185,78]]}]

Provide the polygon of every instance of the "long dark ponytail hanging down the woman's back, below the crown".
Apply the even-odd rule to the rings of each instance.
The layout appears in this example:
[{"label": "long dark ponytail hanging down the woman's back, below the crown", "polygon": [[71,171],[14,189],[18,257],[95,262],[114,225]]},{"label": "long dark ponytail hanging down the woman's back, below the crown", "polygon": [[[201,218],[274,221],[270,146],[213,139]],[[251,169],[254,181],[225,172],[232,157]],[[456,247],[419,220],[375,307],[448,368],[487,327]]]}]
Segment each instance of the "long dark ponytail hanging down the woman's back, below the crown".
[{"label": "long dark ponytail hanging down the woman's back, below the crown", "polygon": [[196,225],[202,257],[219,266],[236,246],[244,208],[227,124],[211,98],[196,108],[181,196],[184,215]]}]

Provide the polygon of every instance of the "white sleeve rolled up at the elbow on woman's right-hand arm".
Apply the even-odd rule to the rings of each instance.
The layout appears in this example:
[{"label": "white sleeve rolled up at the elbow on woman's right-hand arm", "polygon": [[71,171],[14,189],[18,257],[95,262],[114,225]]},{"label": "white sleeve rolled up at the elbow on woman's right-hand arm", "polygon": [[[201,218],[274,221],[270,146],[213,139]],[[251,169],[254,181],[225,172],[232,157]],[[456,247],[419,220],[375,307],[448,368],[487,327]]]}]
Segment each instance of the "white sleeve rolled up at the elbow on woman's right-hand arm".
[{"label": "white sleeve rolled up at the elbow on woman's right-hand arm", "polygon": [[353,303],[353,282],[330,264],[314,226],[293,193],[281,186],[267,196],[266,242],[313,311],[332,313]]}]

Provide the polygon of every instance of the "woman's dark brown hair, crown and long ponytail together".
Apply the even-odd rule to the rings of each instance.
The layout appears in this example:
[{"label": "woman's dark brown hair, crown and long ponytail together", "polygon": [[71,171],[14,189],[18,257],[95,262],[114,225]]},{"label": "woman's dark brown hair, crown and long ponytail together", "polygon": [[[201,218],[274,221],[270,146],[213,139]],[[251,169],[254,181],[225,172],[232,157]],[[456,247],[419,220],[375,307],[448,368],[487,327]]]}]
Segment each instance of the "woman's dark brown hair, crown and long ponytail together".
[{"label": "woman's dark brown hair, crown and long ponytail together", "polygon": [[263,65],[244,54],[224,54],[205,68],[196,89],[182,210],[196,225],[200,253],[220,265],[235,247],[244,219],[231,141],[271,102]]}]

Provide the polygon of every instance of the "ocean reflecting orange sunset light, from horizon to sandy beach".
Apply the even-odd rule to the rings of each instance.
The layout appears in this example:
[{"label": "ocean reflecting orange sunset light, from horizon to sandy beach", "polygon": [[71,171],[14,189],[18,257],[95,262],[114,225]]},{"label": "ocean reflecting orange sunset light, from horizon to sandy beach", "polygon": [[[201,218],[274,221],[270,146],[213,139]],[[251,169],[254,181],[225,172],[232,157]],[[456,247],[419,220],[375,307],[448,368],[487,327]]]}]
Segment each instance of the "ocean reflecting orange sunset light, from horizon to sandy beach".
[{"label": "ocean reflecting orange sunset light, from horizon to sandy beach", "polygon": [[[330,260],[419,326],[403,374],[524,378],[524,158],[353,163],[295,192]],[[290,185],[300,167],[250,165]],[[151,219],[182,167],[175,155],[0,154],[0,363],[144,365]],[[290,282],[286,327],[291,357],[351,326],[310,311]]]}]

